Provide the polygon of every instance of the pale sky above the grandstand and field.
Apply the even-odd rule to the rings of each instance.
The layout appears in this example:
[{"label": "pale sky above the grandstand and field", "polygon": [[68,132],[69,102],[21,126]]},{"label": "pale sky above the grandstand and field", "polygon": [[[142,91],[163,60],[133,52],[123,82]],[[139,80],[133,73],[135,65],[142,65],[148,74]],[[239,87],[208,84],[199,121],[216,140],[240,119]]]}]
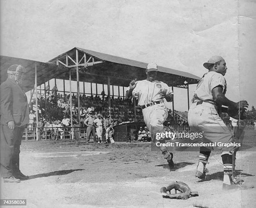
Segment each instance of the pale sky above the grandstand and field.
[{"label": "pale sky above the grandstand and field", "polygon": [[[226,96],[256,105],[254,0],[1,0],[0,11],[1,55],[46,62],[80,47],[199,77],[221,55]],[[186,89],[174,99],[187,110]]]}]

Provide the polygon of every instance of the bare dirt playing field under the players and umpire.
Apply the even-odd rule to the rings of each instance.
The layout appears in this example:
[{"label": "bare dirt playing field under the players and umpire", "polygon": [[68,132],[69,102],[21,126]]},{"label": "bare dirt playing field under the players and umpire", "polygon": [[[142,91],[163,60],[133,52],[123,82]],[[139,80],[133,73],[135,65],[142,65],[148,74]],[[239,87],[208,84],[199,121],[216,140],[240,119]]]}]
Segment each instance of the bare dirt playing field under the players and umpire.
[{"label": "bare dirt playing field under the players and umpire", "polygon": [[[249,151],[250,150],[250,151]],[[237,153],[236,170],[256,185],[256,148]],[[27,199],[27,207],[255,207],[256,189],[223,191],[220,152],[213,151],[207,181],[194,176],[198,152],[175,152],[169,170],[150,143],[85,144],[77,141],[23,141],[21,183],[1,184],[1,198]],[[242,163],[241,163],[242,162]],[[160,188],[170,181],[187,183],[199,197],[165,199]],[[10,207],[10,206],[9,206]]]}]

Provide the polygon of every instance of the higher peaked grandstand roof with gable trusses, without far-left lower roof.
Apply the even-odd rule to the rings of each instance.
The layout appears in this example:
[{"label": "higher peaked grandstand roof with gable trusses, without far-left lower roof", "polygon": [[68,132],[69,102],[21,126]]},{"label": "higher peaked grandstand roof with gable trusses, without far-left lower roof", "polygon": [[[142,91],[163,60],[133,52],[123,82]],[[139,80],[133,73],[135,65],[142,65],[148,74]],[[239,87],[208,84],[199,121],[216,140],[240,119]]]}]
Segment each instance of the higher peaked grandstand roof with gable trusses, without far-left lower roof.
[{"label": "higher peaked grandstand roof with gable trusses, without far-left lower roof", "polygon": [[[79,51],[78,60],[82,60],[83,55],[85,55],[87,60],[90,60],[90,57],[94,58],[94,60],[91,59],[87,62],[86,68],[83,68],[82,64],[79,67],[80,81],[107,84],[107,77],[110,76],[111,85],[128,86],[132,79],[146,79],[145,68],[147,63],[77,47],[51,59],[49,63],[56,63],[56,60],[66,63],[67,54],[69,57],[72,57],[73,62],[76,62],[76,50]],[[96,64],[88,65],[88,63],[92,63],[93,61]],[[196,84],[200,80],[200,77],[172,68],[158,66],[158,70],[157,78],[169,86],[182,87],[184,81],[188,84]],[[73,77],[72,80],[76,80],[76,76],[74,75]],[[61,74],[57,78],[69,79],[69,73]]]}]

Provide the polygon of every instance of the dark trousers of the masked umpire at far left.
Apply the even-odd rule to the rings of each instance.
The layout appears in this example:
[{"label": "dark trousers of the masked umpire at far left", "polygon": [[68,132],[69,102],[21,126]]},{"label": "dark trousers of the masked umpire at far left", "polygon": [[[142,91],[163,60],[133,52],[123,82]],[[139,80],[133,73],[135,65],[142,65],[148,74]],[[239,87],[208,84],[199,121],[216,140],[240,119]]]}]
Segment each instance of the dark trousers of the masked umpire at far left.
[{"label": "dark trousers of the masked umpire at far left", "polygon": [[20,172],[20,144],[24,126],[10,130],[0,124],[0,172],[8,178]]}]

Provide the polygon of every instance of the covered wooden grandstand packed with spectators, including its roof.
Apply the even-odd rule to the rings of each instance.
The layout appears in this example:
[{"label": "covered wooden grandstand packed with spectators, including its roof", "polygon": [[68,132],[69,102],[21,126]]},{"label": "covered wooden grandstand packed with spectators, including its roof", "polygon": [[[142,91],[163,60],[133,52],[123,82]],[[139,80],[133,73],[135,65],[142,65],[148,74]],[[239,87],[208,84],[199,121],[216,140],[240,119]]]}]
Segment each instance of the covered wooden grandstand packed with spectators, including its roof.
[{"label": "covered wooden grandstand packed with spectators, including its roof", "polygon": [[[27,69],[28,79],[24,82],[23,88],[26,91],[31,90],[29,104],[30,108],[36,111],[36,127],[40,120],[38,112],[41,114],[40,117],[44,117],[48,122],[61,120],[63,115],[67,114],[69,118],[72,118],[72,127],[74,125],[82,127],[83,122],[81,121],[86,116],[83,111],[86,112],[91,107],[95,108],[95,113],[101,113],[105,117],[111,115],[115,125],[143,120],[141,109],[136,107],[136,99],[133,100],[133,103],[130,100],[125,100],[125,88],[134,78],[145,79],[146,63],[82,48],[73,48],[47,63],[0,56],[1,83],[7,77],[7,68],[17,63]],[[196,84],[200,79],[190,73],[161,66],[159,66],[158,77],[159,80],[172,86],[172,89],[174,87],[187,89],[188,98],[189,84]],[[50,88],[49,80],[52,79],[54,79],[54,86]],[[59,87],[56,80],[63,80],[63,90],[57,90]],[[75,91],[72,91],[72,81],[77,82]],[[69,89],[65,89],[67,82]],[[85,83],[90,83],[91,92],[89,94],[85,93]],[[96,85],[94,93],[93,83]],[[99,85],[102,85],[107,96],[104,95],[105,93],[102,96],[102,93],[98,92],[97,86]],[[107,89],[104,89],[105,85],[107,85]],[[111,86],[112,95],[110,94]],[[114,94],[114,87],[118,88],[118,94]],[[35,99],[36,97],[38,99]],[[174,109],[174,103],[175,100],[172,103],[172,109]],[[186,118],[182,118],[174,110],[169,112],[168,119],[172,125],[187,125]]]}]

